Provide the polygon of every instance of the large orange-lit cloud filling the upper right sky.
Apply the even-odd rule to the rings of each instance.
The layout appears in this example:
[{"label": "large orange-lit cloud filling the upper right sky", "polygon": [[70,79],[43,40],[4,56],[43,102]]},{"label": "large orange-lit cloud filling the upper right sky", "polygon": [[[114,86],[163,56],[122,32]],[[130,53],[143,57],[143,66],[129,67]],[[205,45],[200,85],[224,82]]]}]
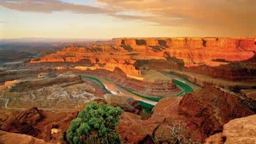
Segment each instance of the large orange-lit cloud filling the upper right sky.
[{"label": "large orange-lit cloud filling the upper right sky", "polygon": [[[152,17],[130,17],[162,26],[256,33],[255,0],[98,0],[108,8],[151,13]],[[122,18],[122,16],[118,16]],[[127,16],[123,16],[125,18]]]}]

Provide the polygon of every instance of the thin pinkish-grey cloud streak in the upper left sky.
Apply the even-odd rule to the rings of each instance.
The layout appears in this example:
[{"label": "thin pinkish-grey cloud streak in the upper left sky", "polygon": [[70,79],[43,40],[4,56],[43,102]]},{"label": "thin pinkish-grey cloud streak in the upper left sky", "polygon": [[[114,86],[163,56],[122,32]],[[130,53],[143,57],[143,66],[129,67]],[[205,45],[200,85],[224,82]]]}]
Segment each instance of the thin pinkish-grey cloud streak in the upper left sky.
[{"label": "thin pinkish-grey cloud streak in the upper left sky", "polygon": [[88,5],[76,5],[73,3],[61,2],[57,0],[2,0],[0,1],[0,6],[21,12],[40,13],[52,13],[65,10],[83,14],[108,14],[116,12],[116,10],[113,9],[97,8]]}]

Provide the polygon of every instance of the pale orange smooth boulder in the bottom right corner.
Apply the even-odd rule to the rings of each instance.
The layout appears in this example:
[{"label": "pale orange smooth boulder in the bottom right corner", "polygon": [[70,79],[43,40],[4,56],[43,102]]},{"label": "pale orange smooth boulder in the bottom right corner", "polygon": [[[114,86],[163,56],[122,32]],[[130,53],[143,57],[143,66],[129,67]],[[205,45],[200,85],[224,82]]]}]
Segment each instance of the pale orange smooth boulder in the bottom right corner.
[{"label": "pale orange smooth boulder in the bottom right corner", "polygon": [[223,131],[206,139],[205,144],[256,143],[256,115],[236,118],[223,126]]}]

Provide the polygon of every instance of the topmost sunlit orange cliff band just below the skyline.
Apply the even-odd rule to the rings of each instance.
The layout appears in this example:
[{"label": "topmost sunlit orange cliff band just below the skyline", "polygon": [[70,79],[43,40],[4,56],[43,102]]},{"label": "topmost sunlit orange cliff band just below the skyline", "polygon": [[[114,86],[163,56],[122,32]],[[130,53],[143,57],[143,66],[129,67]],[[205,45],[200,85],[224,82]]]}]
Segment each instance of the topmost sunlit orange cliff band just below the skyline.
[{"label": "topmost sunlit orange cliff band just below the skyline", "polygon": [[118,38],[116,45],[137,45],[144,46],[165,46],[165,47],[191,47],[191,48],[242,48],[246,51],[255,51],[256,37],[234,37],[234,38],[216,38],[216,37],[176,37],[176,38]]}]

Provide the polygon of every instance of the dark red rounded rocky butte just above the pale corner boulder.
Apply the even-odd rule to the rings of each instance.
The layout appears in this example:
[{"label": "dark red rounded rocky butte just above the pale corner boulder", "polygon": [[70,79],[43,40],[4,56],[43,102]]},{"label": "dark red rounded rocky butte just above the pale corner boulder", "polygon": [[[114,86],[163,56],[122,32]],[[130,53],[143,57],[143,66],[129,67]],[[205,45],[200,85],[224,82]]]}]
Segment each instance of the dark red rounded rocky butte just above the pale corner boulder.
[{"label": "dark red rounded rocky butte just above the pale corner boulder", "polygon": [[221,88],[207,87],[194,93],[187,93],[180,102],[180,113],[184,114],[201,135],[209,135],[222,131],[229,120],[255,114],[246,105],[246,99]]}]

